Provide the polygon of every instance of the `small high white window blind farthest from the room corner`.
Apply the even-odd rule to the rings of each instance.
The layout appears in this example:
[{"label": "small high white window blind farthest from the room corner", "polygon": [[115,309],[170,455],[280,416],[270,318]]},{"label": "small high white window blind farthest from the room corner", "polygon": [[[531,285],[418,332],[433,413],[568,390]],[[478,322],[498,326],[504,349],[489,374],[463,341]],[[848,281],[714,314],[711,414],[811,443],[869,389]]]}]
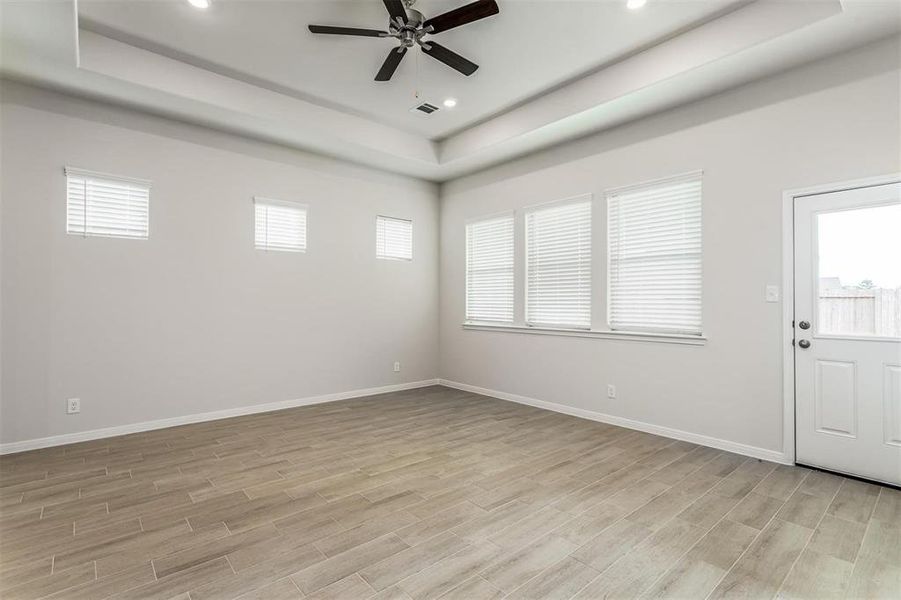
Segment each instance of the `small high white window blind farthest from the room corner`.
[{"label": "small high white window blind farthest from the room corner", "polygon": [[147,239],[150,182],[66,168],[66,233]]}]

